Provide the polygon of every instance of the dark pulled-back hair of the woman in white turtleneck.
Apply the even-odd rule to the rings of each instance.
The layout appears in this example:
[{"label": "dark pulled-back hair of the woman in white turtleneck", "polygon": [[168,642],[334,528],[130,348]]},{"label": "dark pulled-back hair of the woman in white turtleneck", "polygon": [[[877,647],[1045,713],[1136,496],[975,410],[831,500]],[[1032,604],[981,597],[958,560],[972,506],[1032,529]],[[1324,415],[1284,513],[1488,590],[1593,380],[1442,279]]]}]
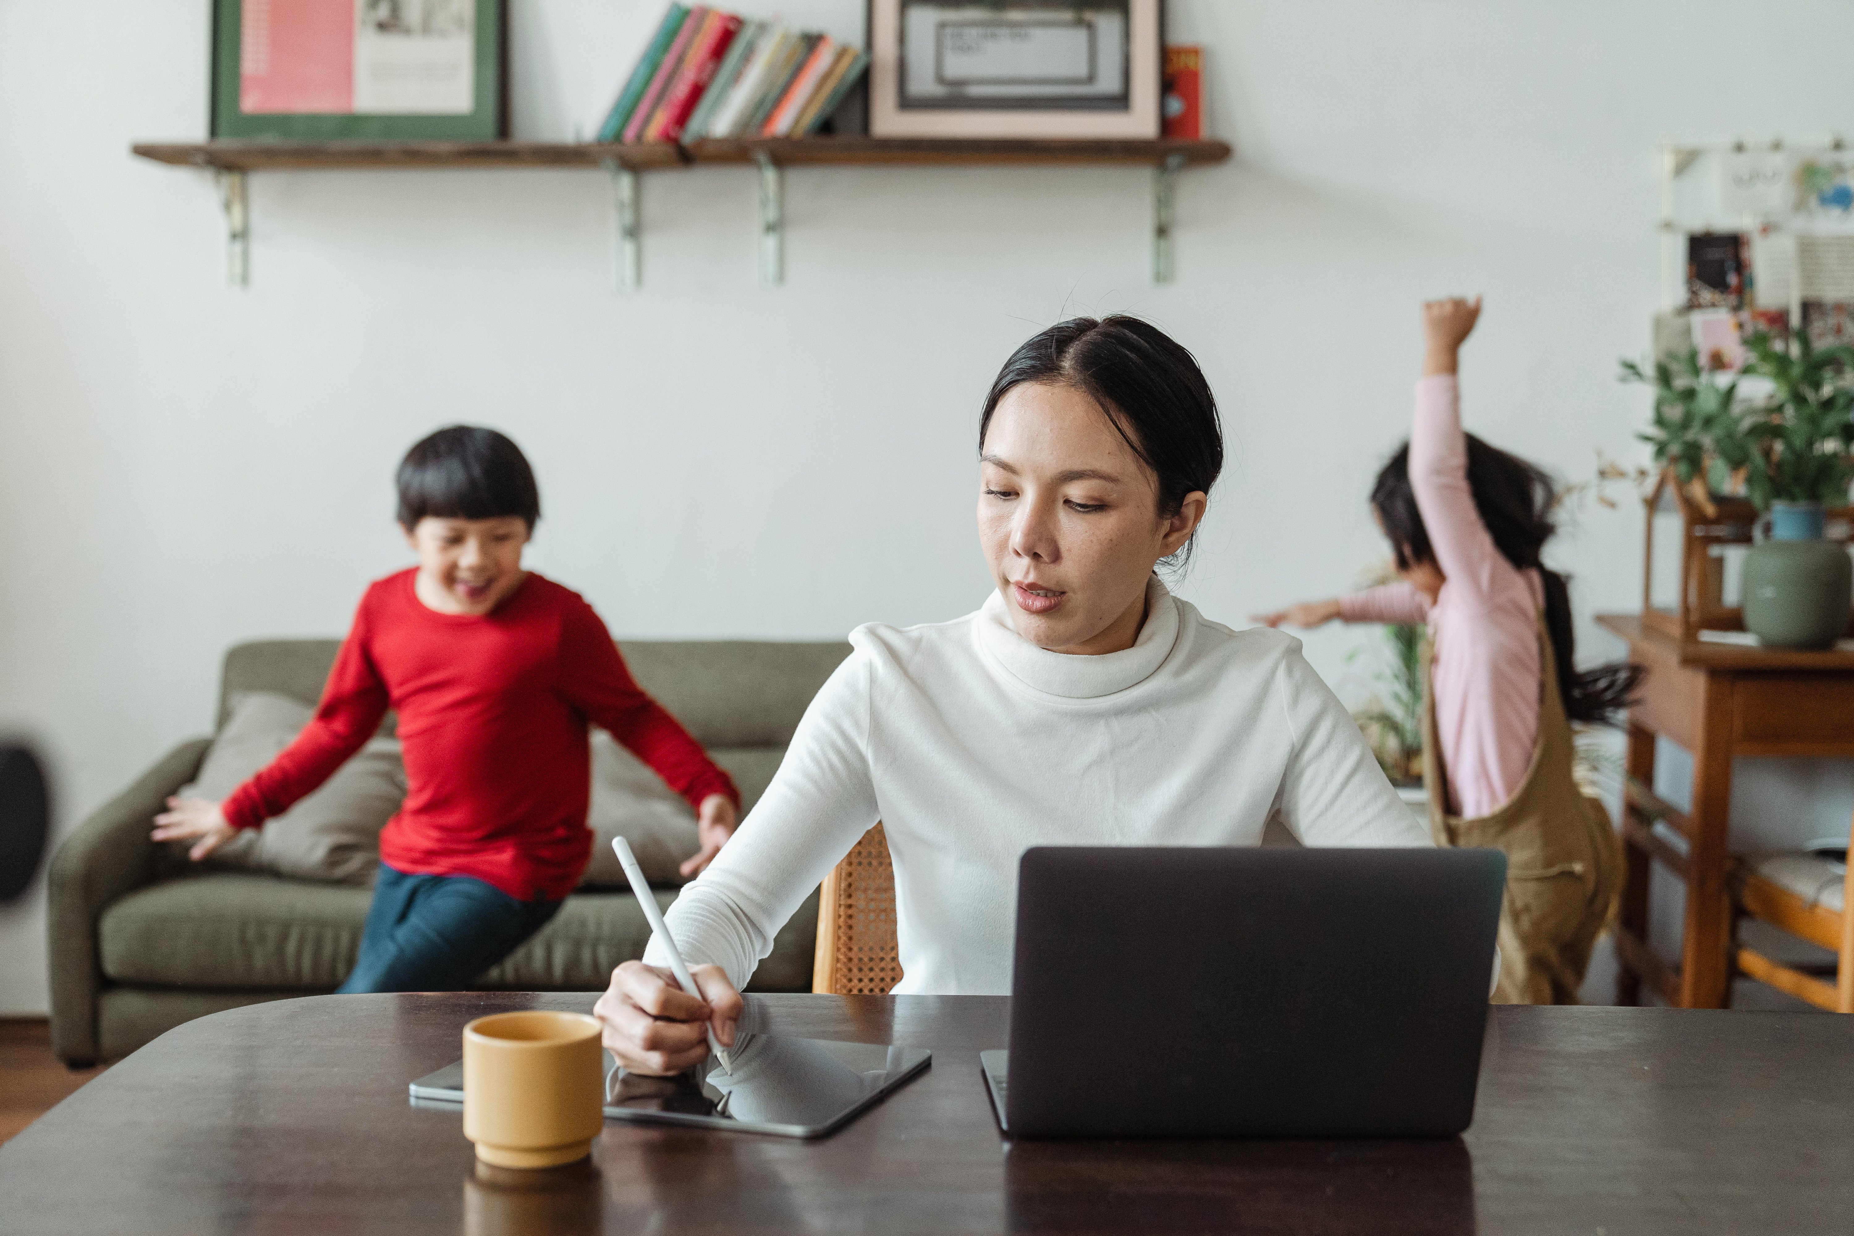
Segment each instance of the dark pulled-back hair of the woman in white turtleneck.
[{"label": "dark pulled-back hair of the woman in white turtleneck", "polygon": [[[1133,454],[1159,478],[1170,519],[1190,493],[1211,493],[1224,471],[1224,423],[1196,358],[1137,317],[1072,317],[1035,335],[997,371],[979,417],[979,454],[997,402],[1025,382],[1072,385],[1092,398]],[[1190,560],[1194,532],[1168,565]]]}]

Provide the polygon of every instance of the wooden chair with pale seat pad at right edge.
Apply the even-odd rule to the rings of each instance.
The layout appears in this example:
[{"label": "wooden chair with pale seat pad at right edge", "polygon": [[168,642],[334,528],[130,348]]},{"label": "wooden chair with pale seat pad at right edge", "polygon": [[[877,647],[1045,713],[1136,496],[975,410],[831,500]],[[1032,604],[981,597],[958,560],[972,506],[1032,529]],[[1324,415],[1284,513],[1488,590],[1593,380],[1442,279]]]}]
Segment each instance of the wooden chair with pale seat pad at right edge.
[{"label": "wooden chair with pale seat pad at right edge", "polygon": [[1732,960],[1741,975],[1817,1008],[1854,1014],[1854,869],[1837,873],[1815,854],[1774,854],[1756,862],[1741,858],[1732,871],[1732,895],[1737,917],[1769,923],[1832,951],[1837,960],[1830,982],[1733,941]]}]

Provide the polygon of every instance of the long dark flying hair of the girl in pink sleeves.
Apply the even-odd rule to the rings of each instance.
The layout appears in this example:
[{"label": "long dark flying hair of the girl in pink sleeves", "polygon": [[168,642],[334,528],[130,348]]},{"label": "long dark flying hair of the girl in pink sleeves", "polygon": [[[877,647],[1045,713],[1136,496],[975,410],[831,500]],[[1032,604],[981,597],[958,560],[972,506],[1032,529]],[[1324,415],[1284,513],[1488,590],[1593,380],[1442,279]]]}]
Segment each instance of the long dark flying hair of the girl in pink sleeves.
[{"label": "long dark flying hair of the girl in pink sleeves", "polygon": [[[1557,487],[1537,465],[1489,447],[1474,434],[1467,434],[1467,439],[1474,510],[1487,524],[1500,556],[1520,571],[1537,571],[1544,582],[1544,630],[1557,658],[1557,693],[1565,700],[1565,715],[1572,721],[1615,725],[1617,712],[1628,706],[1635,687],[1641,686],[1643,671],[1628,662],[1611,662],[1580,673],[1572,662],[1576,636],[1570,628],[1570,586],[1563,574],[1546,569],[1539,560],[1539,550],[1557,532],[1557,524],[1552,523]],[[1409,487],[1409,443],[1398,447],[1378,473],[1372,510],[1390,537],[1398,569],[1407,571],[1413,563],[1435,561],[1429,530],[1422,524],[1416,493]]]}]

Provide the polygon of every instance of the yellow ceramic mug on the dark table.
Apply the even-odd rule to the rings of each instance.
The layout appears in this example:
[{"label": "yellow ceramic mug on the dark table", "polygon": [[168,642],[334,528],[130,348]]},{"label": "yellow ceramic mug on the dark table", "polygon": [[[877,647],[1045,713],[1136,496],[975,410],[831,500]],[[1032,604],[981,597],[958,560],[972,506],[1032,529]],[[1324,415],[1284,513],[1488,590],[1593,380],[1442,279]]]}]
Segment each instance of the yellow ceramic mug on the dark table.
[{"label": "yellow ceramic mug on the dark table", "polygon": [[464,1136],[497,1167],[558,1167],[604,1129],[599,1023],[495,1014],[464,1027]]}]

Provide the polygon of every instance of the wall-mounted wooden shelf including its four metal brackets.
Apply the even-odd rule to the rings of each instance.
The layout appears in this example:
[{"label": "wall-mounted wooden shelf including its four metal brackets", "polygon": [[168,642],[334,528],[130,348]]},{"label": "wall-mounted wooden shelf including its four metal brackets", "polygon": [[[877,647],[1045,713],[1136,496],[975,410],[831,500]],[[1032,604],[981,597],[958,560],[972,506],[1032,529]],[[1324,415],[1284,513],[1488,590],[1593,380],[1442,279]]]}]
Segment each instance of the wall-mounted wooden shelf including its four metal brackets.
[{"label": "wall-mounted wooden shelf including its four metal brackets", "polygon": [[1172,198],[1177,172],[1222,163],[1222,141],[973,141],[803,137],[671,143],[540,143],[540,141],[204,141],[141,143],[132,152],[215,174],[226,215],[226,274],[243,287],[250,278],[250,228],[245,176],[258,170],[432,169],[432,167],[601,167],[617,196],[619,284],[640,284],[638,172],[690,165],[758,167],[760,282],[784,280],[786,167],[1038,167],[1124,165],[1153,169],[1153,282],[1172,282]]}]

